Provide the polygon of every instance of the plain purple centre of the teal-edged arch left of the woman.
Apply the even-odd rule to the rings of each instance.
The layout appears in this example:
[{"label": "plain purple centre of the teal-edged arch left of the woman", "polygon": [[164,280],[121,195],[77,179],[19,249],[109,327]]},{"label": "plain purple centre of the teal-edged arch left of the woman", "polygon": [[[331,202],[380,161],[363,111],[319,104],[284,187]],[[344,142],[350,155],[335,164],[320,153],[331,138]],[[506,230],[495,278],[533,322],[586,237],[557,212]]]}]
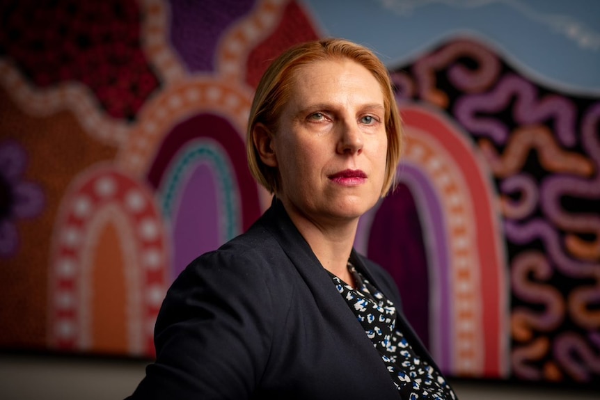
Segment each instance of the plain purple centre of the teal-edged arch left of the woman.
[{"label": "plain purple centre of the teal-edged arch left of the woman", "polygon": [[196,257],[221,244],[220,211],[212,170],[205,164],[191,168],[189,179],[179,193],[179,207],[173,216],[173,278]]}]

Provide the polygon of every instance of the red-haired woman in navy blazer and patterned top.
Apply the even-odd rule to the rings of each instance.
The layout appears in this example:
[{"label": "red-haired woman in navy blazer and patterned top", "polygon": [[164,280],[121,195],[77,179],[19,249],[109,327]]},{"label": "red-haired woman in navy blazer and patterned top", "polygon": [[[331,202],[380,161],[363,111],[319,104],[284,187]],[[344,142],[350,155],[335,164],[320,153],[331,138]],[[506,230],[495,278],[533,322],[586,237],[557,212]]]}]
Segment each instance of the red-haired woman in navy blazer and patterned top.
[{"label": "red-haired woman in navy blazer and patterned top", "polygon": [[455,399],[400,312],[390,276],[353,248],[393,185],[401,125],[384,65],[338,39],[286,51],[247,132],[271,207],[175,280],[157,360],[133,399]]}]

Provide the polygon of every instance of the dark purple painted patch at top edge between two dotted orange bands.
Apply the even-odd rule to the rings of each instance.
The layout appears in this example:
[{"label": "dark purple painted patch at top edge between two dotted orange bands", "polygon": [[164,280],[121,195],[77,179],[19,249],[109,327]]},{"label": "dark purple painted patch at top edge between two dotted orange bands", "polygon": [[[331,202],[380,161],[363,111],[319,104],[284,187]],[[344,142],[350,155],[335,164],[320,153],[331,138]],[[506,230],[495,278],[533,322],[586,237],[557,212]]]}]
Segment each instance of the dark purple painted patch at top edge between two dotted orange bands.
[{"label": "dark purple painted patch at top edge between two dotted orange bands", "polygon": [[171,0],[171,43],[189,72],[214,70],[223,31],[253,4],[253,0]]}]

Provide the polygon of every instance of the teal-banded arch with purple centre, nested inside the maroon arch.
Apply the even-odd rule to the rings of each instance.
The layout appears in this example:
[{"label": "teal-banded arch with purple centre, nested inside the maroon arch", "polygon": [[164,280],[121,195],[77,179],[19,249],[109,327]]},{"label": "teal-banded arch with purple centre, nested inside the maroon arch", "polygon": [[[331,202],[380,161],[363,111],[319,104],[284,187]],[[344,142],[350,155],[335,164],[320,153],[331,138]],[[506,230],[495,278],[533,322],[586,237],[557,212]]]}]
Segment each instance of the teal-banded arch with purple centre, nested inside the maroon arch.
[{"label": "teal-banded arch with purple centre, nested inside the maroon arch", "polygon": [[228,153],[200,137],[177,152],[157,193],[173,236],[173,278],[198,255],[242,233],[237,179]]}]

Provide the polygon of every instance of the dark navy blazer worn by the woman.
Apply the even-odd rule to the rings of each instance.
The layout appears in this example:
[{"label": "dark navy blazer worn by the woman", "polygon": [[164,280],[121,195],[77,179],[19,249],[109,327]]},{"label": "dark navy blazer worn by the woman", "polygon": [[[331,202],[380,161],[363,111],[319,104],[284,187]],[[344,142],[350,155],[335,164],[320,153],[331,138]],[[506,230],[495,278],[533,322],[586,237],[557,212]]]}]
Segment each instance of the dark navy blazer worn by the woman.
[{"label": "dark navy blazer worn by the woman", "polygon": [[[354,250],[351,259],[437,368],[400,312],[390,275]],[[155,346],[130,399],[399,399],[381,355],[278,200],[173,282]]]}]

